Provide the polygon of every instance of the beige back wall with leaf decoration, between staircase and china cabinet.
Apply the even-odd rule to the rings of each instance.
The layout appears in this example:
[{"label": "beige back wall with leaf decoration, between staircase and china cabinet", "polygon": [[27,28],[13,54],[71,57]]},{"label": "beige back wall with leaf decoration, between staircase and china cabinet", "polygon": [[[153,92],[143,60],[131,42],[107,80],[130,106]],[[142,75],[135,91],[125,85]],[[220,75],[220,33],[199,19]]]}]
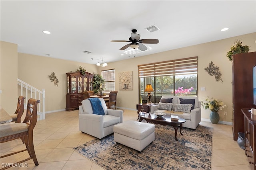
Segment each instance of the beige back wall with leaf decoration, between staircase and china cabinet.
[{"label": "beige back wall with leaf decoration, between staircase and china cabinet", "polygon": [[[84,67],[87,72],[97,72],[94,64],[18,53],[18,78],[38,90],[45,89],[46,113],[66,108],[66,72],[76,71],[79,66]],[[58,86],[54,86],[48,78],[52,72],[59,80]]]}]

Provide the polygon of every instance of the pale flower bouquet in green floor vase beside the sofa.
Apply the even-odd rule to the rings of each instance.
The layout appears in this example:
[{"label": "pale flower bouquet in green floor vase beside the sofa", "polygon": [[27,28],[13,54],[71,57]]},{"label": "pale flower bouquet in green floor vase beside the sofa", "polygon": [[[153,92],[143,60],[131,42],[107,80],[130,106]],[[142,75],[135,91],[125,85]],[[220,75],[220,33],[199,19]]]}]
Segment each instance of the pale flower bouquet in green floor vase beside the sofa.
[{"label": "pale flower bouquet in green floor vase beside the sofa", "polygon": [[206,98],[205,102],[201,101],[202,106],[204,109],[210,109],[210,121],[213,124],[217,124],[220,120],[220,115],[218,113],[219,110],[222,110],[222,108],[227,107],[222,101],[216,100],[214,98],[209,99]]}]

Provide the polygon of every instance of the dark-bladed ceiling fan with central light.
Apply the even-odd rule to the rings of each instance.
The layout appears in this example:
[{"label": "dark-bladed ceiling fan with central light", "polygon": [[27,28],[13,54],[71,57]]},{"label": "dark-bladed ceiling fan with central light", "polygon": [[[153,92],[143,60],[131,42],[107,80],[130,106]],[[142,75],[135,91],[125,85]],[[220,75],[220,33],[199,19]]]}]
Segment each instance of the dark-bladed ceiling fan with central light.
[{"label": "dark-bladed ceiling fan with central light", "polygon": [[128,47],[131,47],[133,49],[140,49],[141,51],[145,51],[148,49],[144,44],[157,44],[159,42],[158,39],[140,39],[140,34],[136,34],[137,29],[132,29],[131,37],[129,38],[129,41],[126,40],[112,40],[111,42],[131,42],[129,44],[126,44],[124,47],[120,48],[120,50],[125,50]]}]

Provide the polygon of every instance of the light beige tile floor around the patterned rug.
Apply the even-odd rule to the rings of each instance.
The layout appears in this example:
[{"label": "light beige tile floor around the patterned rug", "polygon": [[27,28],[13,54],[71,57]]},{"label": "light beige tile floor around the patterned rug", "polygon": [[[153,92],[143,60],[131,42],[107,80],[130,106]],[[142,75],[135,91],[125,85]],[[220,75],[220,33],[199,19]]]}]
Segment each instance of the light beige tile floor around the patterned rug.
[{"label": "light beige tile floor around the patterned rug", "polygon": [[[124,121],[137,120],[137,111],[125,110]],[[22,118],[23,119],[23,118]],[[233,141],[231,125],[214,125],[202,121],[200,125],[214,128],[212,147],[212,170],[250,170],[244,150]],[[34,129],[34,148],[39,162],[24,162],[28,167],[12,167],[10,170],[102,170],[91,160],[78,154],[74,147],[93,140],[94,137],[81,133],[78,128],[78,110],[59,111],[46,114],[46,119],[38,121]],[[0,144],[0,154],[8,154],[25,149],[20,139]],[[13,163],[28,157],[28,152],[1,158],[3,163]]]}]

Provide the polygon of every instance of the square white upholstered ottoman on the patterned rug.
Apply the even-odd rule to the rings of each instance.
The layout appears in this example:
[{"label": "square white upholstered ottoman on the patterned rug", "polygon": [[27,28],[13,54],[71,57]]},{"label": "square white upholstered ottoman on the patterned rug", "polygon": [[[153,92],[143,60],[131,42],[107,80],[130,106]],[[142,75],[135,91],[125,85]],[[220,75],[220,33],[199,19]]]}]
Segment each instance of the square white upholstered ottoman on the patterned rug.
[{"label": "square white upholstered ottoman on the patterned rug", "polygon": [[139,152],[154,140],[154,124],[128,120],[114,125],[114,141]]}]

